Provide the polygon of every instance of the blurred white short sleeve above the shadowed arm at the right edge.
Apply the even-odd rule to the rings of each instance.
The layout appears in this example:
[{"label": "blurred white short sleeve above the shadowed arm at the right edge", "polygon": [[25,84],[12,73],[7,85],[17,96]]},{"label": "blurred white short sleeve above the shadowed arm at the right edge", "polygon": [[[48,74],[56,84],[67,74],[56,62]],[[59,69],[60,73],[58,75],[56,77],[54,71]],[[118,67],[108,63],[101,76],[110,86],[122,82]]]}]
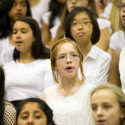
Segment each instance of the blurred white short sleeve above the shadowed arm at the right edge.
[{"label": "blurred white short sleeve above the shadowed arm at the right edge", "polygon": [[125,32],[119,30],[113,33],[110,37],[109,46],[114,50],[122,49],[125,46]]}]

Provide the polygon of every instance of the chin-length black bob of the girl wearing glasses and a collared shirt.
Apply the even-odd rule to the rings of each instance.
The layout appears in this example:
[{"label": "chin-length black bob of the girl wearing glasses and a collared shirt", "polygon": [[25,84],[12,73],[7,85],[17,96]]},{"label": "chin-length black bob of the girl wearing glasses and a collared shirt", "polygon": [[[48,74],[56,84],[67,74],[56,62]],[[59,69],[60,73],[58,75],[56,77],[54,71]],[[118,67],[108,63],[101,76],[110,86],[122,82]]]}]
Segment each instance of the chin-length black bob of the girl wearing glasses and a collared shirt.
[{"label": "chin-length black bob of the girl wearing glasses and a collared shirt", "polygon": [[75,9],[73,9],[68,14],[67,18],[64,20],[65,36],[68,37],[68,38],[70,38],[70,39],[72,39],[72,40],[74,40],[73,37],[71,36],[70,27],[71,27],[71,24],[73,22],[73,19],[80,12],[87,13],[88,16],[89,16],[89,18],[90,18],[90,20],[92,21],[93,32],[92,32],[92,36],[91,36],[91,41],[92,41],[92,44],[95,44],[99,40],[100,29],[99,29],[99,26],[98,26],[97,19],[96,19],[95,15],[92,13],[91,10],[89,10],[87,8],[76,7]]}]

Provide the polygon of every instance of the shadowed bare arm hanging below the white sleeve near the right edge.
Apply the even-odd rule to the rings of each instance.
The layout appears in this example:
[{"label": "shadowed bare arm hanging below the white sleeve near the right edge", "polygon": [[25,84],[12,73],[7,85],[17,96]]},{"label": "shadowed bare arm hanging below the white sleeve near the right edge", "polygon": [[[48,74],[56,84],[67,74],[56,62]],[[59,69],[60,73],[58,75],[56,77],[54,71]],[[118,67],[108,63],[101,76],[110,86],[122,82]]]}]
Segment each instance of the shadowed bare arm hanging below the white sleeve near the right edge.
[{"label": "shadowed bare arm hanging below the white sleeve near the right edge", "polygon": [[115,50],[111,49],[111,52],[112,52],[112,60],[111,60],[111,65],[110,65],[110,69],[109,69],[108,81],[112,84],[121,86],[120,74],[119,74],[119,69],[118,69],[119,56],[120,56],[121,50],[115,51]]}]

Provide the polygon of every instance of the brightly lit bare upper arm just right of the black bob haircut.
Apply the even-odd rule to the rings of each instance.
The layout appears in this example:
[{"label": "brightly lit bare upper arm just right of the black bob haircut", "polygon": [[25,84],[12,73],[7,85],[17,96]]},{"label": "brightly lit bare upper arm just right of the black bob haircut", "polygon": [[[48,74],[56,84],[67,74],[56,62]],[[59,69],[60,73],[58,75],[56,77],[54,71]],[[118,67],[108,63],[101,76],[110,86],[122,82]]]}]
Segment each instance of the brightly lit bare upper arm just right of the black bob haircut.
[{"label": "brightly lit bare upper arm just right of the black bob haircut", "polygon": [[107,51],[109,48],[110,32],[108,28],[100,30],[100,39],[96,43],[100,49]]}]

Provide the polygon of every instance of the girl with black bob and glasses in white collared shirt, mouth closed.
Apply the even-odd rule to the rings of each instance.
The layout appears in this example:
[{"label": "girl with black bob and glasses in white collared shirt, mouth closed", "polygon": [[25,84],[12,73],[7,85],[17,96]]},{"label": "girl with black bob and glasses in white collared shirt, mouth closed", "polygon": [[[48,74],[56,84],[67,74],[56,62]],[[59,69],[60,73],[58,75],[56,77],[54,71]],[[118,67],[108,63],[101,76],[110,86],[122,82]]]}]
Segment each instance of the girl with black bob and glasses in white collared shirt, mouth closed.
[{"label": "girl with black bob and glasses in white collared shirt, mouth closed", "polygon": [[76,42],[84,57],[83,70],[88,83],[99,85],[107,82],[111,56],[95,46],[100,30],[93,13],[77,7],[64,22],[65,35]]}]

